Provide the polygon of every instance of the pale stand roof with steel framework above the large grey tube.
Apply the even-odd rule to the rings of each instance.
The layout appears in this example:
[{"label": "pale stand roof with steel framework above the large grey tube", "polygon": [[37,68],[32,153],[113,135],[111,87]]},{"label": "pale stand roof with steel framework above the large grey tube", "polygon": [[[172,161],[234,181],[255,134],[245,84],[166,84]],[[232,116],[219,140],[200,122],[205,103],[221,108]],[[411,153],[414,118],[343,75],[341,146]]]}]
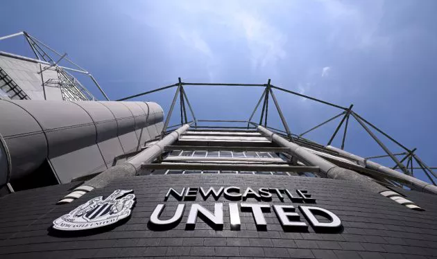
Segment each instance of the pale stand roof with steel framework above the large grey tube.
[{"label": "pale stand roof with steel framework above the large grey tube", "polygon": [[[67,53],[61,54],[58,51],[55,51],[50,46],[41,42],[40,39],[29,35],[25,31],[0,37],[0,41],[15,37],[24,37],[35,56],[24,57],[22,55],[0,51],[0,57],[12,59],[15,62],[11,65],[12,67],[9,67],[9,70],[12,70],[13,72],[19,70],[17,72],[18,76],[12,78],[12,76],[8,75],[8,71],[0,69],[0,83],[2,84],[0,90],[8,92],[9,96],[12,96],[11,99],[28,100],[37,98],[50,100],[50,96],[55,96],[58,99],[62,98],[62,100],[95,100],[96,98],[92,93],[90,93],[88,89],[71,74],[80,73],[89,76],[105,99],[109,100],[94,76],[75,62],[71,61],[67,57]],[[22,61],[22,64],[17,63],[18,60]],[[28,62],[35,63],[37,66],[26,67],[25,64]],[[63,63],[67,65],[62,66],[61,64]],[[35,80],[32,80],[31,78],[29,79],[30,81],[26,80],[24,78],[28,78],[26,72],[34,75],[35,78],[40,78],[40,82],[36,82],[35,84],[35,82],[33,82]],[[19,76],[20,74],[24,74],[22,75],[24,81],[31,82],[31,84],[33,83],[33,86],[31,85],[29,87],[28,84],[20,84],[20,82],[17,84],[17,82],[15,82],[16,80],[22,80],[22,77]],[[40,87],[41,89],[39,89]],[[35,89],[37,89],[37,91],[35,91]],[[41,96],[35,93],[38,91],[42,92]],[[56,91],[59,91],[59,93],[56,94]],[[53,100],[53,98],[51,99]]]}]

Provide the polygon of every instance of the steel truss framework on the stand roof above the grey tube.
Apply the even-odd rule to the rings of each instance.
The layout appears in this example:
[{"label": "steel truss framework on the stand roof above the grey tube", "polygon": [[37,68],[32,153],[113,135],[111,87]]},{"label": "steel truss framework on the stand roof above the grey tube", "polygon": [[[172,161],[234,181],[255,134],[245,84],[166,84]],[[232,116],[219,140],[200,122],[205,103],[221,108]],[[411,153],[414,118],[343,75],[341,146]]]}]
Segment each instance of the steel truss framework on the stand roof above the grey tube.
[{"label": "steel truss framework on the stand roof above the grey tube", "polygon": [[[42,91],[44,93],[44,99],[46,99],[46,87],[59,87],[62,93],[63,100],[95,100],[92,93],[90,93],[73,75],[68,71],[83,73],[88,75],[92,82],[96,85],[98,90],[103,94],[106,100],[109,100],[106,93],[101,89],[100,85],[91,73],[80,67],[78,64],[72,62],[67,57],[67,53],[60,54],[53,48],[47,46],[36,37],[29,35],[25,31],[0,37],[0,41],[3,39],[10,39],[12,37],[23,36],[26,42],[31,47],[33,54],[35,55],[34,62],[37,61],[40,65],[39,74],[41,75]],[[54,55],[49,55],[49,51]],[[55,60],[57,59],[57,60]],[[59,63],[65,60],[71,67],[60,66]],[[56,71],[58,73],[58,80],[53,78],[44,81],[43,72],[46,70]]]}]

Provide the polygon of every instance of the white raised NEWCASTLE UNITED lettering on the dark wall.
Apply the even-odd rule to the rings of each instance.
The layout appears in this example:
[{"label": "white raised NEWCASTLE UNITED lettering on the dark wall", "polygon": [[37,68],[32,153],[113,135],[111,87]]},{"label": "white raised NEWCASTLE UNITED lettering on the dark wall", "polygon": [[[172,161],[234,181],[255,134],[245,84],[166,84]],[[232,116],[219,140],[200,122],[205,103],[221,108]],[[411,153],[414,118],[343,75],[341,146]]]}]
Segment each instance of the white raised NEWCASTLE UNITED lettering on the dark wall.
[{"label": "white raised NEWCASTLE UNITED lettering on the dark wall", "polygon": [[[170,197],[178,201],[196,201],[199,197],[203,200],[214,199],[218,200],[224,197],[229,204],[223,205],[221,202],[214,204],[214,211],[209,211],[200,204],[191,204],[188,211],[186,226],[188,229],[194,229],[198,217],[207,222],[214,229],[223,229],[223,206],[228,206],[230,217],[230,228],[238,230],[241,226],[240,212],[250,212],[253,216],[257,229],[266,229],[267,222],[264,217],[265,213],[271,213],[271,209],[284,231],[296,231],[298,229],[306,229],[307,223],[300,220],[300,213],[307,219],[307,222],[316,231],[328,231],[329,229],[338,229],[341,227],[341,220],[337,215],[328,211],[325,208],[318,206],[309,206],[315,204],[316,199],[311,197],[307,190],[295,190],[295,193],[284,188],[258,188],[250,187],[239,188],[236,186],[220,187],[220,188],[203,188],[203,187],[188,187],[181,189],[169,188],[164,201]],[[297,207],[289,204],[266,204],[273,197],[277,197],[282,203],[291,202],[300,204]],[[248,199],[255,199],[252,202],[246,202]],[[241,201],[241,203],[236,203]],[[188,207],[188,206],[187,206]],[[186,206],[181,203],[176,207],[173,216],[166,220],[160,218],[160,215],[165,209],[165,204],[157,204],[153,211],[149,223],[157,229],[171,229],[182,220]],[[227,210],[226,210],[227,211]],[[318,217],[316,217],[316,215]],[[323,220],[321,220],[323,218]]]}]

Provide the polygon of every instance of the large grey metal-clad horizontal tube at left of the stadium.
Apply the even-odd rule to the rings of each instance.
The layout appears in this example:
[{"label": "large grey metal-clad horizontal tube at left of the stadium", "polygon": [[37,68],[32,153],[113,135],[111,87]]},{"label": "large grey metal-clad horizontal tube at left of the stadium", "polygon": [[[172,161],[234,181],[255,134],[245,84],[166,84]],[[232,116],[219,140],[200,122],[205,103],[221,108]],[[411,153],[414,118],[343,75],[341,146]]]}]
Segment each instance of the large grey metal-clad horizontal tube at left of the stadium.
[{"label": "large grey metal-clad horizontal tube at left of the stadium", "polygon": [[101,172],[114,158],[159,136],[164,111],[154,102],[0,100],[0,134],[10,155],[10,180],[48,158],[60,183]]}]

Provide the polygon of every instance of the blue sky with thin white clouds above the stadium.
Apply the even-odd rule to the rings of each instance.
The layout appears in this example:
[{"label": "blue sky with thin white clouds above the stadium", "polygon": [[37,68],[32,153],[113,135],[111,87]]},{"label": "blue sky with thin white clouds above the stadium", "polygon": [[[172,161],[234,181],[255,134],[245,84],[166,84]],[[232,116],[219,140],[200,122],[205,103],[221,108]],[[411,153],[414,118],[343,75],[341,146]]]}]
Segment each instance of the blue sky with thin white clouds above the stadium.
[{"label": "blue sky with thin white clouds above the stadium", "polygon": [[[0,35],[26,30],[68,53],[112,100],[178,77],[241,83],[271,78],[279,87],[354,104],[358,114],[437,166],[437,1],[2,1],[0,8]],[[18,39],[0,42],[3,51],[24,48]],[[138,100],[168,110],[173,91]],[[230,87],[186,91],[198,118],[242,120],[262,93]],[[340,112],[276,95],[295,133]],[[273,102],[269,109],[275,110]],[[268,123],[280,127],[279,116],[270,114]],[[337,123],[308,137],[325,144]],[[340,142],[339,136],[334,145]],[[356,122],[350,123],[345,150],[363,157],[384,153]]]}]

